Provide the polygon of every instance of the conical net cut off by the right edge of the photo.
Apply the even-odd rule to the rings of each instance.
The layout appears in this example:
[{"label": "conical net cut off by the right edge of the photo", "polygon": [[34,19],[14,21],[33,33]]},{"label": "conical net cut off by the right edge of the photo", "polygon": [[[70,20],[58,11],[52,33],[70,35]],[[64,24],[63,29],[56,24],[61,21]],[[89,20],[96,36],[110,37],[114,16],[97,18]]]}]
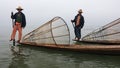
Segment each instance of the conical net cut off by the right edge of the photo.
[{"label": "conical net cut off by the right edge of the photo", "polygon": [[82,39],[84,41],[120,43],[120,18],[89,33]]}]

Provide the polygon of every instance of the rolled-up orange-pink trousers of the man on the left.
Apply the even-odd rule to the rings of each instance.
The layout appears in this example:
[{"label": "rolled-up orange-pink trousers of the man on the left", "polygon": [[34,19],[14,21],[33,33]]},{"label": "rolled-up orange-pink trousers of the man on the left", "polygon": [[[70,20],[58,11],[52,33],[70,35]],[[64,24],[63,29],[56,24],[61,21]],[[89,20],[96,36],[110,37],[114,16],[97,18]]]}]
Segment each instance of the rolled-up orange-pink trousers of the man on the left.
[{"label": "rolled-up orange-pink trousers of the man on the left", "polygon": [[21,40],[21,38],[22,38],[22,27],[21,27],[21,23],[18,23],[18,22],[16,22],[15,25],[13,26],[11,39],[15,39],[15,35],[16,35],[17,31],[18,31],[18,40]]}]

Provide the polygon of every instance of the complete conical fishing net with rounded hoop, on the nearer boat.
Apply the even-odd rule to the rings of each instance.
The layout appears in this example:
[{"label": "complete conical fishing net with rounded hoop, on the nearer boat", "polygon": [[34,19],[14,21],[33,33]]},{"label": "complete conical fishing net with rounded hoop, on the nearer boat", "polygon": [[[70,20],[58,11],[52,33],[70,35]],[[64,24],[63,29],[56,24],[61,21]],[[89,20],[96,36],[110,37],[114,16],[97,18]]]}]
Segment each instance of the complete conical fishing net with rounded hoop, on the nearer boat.
[{"label": "complete conical fishing net with rounded hoop, on the nearer boat", "polygon": [[66,22],[61,17],[55,17],[39,28],[26,34],[23,42],[36,44],[70,44],[70,32]]}]

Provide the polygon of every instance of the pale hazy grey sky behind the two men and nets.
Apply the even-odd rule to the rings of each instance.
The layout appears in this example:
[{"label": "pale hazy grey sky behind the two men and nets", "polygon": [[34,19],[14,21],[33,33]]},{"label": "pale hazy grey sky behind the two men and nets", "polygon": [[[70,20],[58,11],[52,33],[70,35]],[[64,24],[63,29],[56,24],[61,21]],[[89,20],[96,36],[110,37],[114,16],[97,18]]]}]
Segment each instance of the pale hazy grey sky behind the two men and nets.
[{"label": "pale hazy grey sky behind the two men and nets", "polygon": [[62,17],[69,27],[79,9],[85,18],[84,29],[97,29],[120,18],[120,0],[0,0],[1,31],[11,33],[11,11],[21,6],[26,15],[27,27],[24,33],[39,27],[55,16]]}]

